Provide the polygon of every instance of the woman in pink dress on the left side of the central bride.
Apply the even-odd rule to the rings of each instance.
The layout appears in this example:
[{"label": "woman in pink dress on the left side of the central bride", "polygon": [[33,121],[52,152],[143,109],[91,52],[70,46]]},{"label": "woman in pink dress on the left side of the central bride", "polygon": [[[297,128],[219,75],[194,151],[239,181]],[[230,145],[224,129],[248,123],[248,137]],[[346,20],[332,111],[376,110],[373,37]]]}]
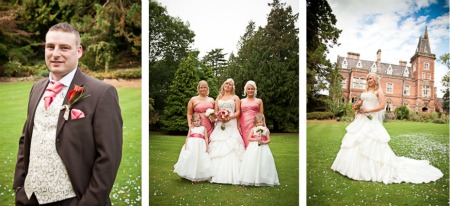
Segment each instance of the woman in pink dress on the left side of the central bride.
[{"label": "woman in pink dress on the left side of the central bride", "polygon": [[206,117],[205,112],[207,109],[214,109],[214,99],[208,97],[209,87],[205,80],[201,80],[197,85],[198,96],[192,97],[188,103],[187,109],[187,119],[189,128],[193,127],[192,114],[198,113],[202,116],[201,125],[206,128],[208,132],[208,137],[213,131],[213,126],[208,117]]}]

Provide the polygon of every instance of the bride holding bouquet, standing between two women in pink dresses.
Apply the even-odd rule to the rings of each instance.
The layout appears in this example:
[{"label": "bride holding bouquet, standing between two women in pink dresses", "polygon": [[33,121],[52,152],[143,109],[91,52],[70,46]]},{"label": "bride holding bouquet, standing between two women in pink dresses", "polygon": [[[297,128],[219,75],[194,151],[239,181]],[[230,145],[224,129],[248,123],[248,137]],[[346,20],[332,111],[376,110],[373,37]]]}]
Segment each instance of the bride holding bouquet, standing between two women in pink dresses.
[{"label": "bride holding bouquet, standing between two women in pink dresses", "polygon": [[239,184],[241,156],[245,150],[237,123],[240,108],[239,97],[234,94],[234,81],[227,79],[220,87],[215,104],[216,113],[226,110],[229,114],[223,117],[218,115],[220,122],[217,122],[210,136],[208,153],[214,174],[210,182]]}]

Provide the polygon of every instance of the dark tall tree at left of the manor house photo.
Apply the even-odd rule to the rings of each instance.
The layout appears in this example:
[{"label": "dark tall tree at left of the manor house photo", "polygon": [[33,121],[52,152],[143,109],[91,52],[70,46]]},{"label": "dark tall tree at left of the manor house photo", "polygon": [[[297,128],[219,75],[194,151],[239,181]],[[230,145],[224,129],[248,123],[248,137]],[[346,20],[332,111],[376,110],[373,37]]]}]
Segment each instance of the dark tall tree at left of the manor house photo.
[{"label": "dark tall tree at left of the manor house photo", "polygon": [[327,76],[332,65],[326,59],[328,48],[337,44],[341,30],[337,29],[336,17],[326,0],[306,1],[306,91],[307,110],[314,111],[318,92],[326,89]]}]

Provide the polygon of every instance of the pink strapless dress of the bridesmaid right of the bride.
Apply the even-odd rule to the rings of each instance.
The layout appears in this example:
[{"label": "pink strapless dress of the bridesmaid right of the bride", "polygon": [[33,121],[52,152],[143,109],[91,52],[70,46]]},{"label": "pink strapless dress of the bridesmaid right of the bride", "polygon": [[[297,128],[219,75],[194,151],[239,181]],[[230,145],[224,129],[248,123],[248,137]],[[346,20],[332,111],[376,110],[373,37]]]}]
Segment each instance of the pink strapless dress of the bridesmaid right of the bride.
[{"label": "pink strapless dress of the bridesmaid right of the bride", "polygon": [[247,101],[241,103],[241,118],[239,120],[239,126],[241,127],[242,139],[244,140],[245,148],[248,145],[248,133],[255,125],[256,114],[259,113],[259,105],[256,101]]}]

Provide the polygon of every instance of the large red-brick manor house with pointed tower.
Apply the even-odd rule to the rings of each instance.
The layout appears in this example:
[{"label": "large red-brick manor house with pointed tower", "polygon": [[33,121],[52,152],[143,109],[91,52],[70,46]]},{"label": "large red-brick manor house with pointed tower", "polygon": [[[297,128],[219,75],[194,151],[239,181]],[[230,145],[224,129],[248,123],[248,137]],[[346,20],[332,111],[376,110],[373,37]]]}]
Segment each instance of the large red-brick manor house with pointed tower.
[{"label": "large red-brick manor house with pointed tower", "polygon": [[399,64],[381,62],[381,50],[376,60],[362,60],[359,53],[348,52],[347,57],[337,58],[345,102],[355,102],[366,89],[366,76],[369,72],[380,77],[380,87],[386,97],[386,111],[405,105],[416,112],[441,111],[434,87],[434,62],[436,55],[431,53],[428,31],[419,37],[416,51],[411,57],[411,67],[400,60]]}]

